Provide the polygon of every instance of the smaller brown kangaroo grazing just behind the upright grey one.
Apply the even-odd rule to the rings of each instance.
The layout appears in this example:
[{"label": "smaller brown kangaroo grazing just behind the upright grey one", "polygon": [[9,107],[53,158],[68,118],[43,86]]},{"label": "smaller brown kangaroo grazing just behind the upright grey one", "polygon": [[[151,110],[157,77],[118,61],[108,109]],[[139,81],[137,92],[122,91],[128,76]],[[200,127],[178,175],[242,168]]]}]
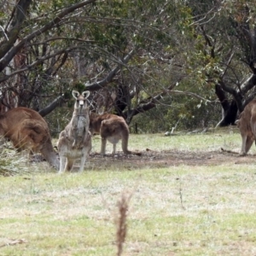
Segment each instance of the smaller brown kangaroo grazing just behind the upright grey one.
[{"label": "smaller brown kangaroo grazing just behind the upright grey one", "polygon": [[100,134],[102,137],[101,154],[106,154],[107,140],[113,144],[112,154],[116,153],[116,144],[122,140],[122,149],[125,154],[141,153],[128,150],[129,126],[125,119],[112,113],[90,113],[90,133]]}]

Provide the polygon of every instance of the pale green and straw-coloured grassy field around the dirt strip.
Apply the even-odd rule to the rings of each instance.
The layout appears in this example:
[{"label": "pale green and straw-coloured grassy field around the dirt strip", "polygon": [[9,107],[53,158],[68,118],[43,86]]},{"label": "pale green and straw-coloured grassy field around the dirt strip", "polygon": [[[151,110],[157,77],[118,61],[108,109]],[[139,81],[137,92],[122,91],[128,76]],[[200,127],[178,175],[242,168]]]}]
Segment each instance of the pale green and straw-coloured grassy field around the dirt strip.
[{"label": "pale green and straw-coloured grassy field around the dirt strip", "polygon": [[64,175],[12,155],[19,172],[0,176],[0,255],[117,255],[118,244],[126,256],[256,255],[255,147],[245,158],[220,150],[239,151],[235,128],[131,135],[129,145],[143,156],[91,157],[83,173]]}]

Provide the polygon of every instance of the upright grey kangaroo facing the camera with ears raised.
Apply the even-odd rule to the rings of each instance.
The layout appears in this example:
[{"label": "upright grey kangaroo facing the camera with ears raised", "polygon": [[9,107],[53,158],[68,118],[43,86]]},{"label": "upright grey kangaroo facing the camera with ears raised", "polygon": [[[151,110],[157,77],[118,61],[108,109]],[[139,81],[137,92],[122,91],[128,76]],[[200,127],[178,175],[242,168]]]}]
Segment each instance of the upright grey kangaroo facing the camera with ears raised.
[{"label": "upright grey kangaroo facing the camera with ears raised", "polygon": [[73,110],[73,117],[61,131],[57,143],[60,154],[60,171],[72,171],[74,161],[80,158],[79,172],[83,172],[85,161],[90,154],[91,136],[89,131],[90,117],[86,98],[90,91],[86,90],[80,95],[73,90],[73,97],[76,99]]}]

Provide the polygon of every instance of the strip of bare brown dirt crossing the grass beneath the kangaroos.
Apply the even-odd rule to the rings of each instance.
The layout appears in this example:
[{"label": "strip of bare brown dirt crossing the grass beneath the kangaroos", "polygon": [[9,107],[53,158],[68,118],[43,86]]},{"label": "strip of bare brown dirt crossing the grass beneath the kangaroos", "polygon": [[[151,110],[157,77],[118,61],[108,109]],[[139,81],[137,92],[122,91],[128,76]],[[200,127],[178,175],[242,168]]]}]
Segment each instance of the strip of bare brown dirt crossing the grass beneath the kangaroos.
[{"label": "strip of bare brown dirt crossing the grass beneath the kangaroos", "polygon": [[[222,164],[247,164],[256,161],[255,155],[248,154],[246,157],[239,156],[238,152],[232,152],[220,148],[212,151],[184,151],[184,150],[164,150],[154,151],[147,149],[142,152],[142,156],[125,155],[125,154],[91,154],[90,163],[96,164],[97,167],[104,163],[107,166],[133,166],[137,168],[147,167],[164,167],[164,166],[218,166]],[[102,159],[104,161],[102,161]]]}]

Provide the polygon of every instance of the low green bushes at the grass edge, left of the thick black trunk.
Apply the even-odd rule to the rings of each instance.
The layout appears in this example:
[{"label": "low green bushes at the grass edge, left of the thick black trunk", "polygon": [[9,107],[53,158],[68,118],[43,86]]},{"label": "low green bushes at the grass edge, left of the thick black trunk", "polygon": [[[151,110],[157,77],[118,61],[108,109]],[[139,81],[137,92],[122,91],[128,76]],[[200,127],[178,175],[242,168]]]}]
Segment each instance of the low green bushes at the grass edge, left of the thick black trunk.
[{"label": "low green bushes at the grass edge, left of the thick black trunk", "polygon": [[159,106],[147,113],[141,113],[131,122],[131,132],[135,126],[139,133],[157,133],[172,131],[192,131],[215,127],[219,121],[218,103],[206,103],[200,100],[192,100],[188,96],[176,96],[172,98],[170,107]]}]

